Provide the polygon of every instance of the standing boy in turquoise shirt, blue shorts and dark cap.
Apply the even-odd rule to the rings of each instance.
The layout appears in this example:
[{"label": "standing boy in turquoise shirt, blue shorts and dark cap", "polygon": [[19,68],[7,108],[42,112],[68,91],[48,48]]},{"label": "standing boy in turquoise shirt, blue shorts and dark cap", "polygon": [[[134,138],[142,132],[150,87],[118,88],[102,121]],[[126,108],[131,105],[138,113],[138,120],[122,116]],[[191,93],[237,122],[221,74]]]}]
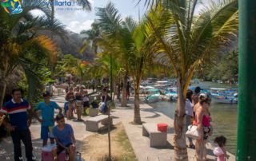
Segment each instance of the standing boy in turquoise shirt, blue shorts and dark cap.
[{"label": "standing boy in turquoise shirt, blue shorts and dark cap", "polygon": [[38,107],[35,108],[35,113],[41,111],[42,119],[37,115],[38,121],[41,123],[41,139],[42,146],[47,145],[47,140],[50,138],[50,143],[54,143],[54,135],[51,132],[51,129],[54,127],[54,109],[58,109],[59,113],[62,113],[62,108],[54,101],[50,100],[50,92],[44,92],[42,94],[44,101],[38,104]]}]

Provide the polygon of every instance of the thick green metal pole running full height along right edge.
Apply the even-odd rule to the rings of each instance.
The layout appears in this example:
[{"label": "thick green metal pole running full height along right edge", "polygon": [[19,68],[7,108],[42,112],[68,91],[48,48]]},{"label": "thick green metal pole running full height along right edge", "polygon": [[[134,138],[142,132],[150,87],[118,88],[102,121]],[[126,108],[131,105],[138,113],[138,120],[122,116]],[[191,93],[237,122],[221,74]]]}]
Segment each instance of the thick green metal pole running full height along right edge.
[{"label": "thick green metal pole running full height along right edge", "polygon": [[256,160],[256,1],[239,0],[237,160]]}]

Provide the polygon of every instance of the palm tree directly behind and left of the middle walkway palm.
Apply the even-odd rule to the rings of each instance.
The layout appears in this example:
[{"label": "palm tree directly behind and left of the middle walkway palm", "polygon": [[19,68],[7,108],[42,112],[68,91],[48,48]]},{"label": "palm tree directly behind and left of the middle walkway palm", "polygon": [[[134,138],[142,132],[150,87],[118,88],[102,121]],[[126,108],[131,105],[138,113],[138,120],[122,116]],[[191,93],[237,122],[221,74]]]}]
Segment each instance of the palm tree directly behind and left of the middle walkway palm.
[{"label": "palm tree directly behind and left of the middle walkway palm", "polygon": [[[126,85],[128,80],[128,63],[127,56],[129,55],[128,46],[129,40],[125,39],[121,32],[121,16],[118,10],[114,8],[113,3],[109,3],[105,8],[98,8],[96,15],[98,16],[98,26],[100,29],[101,38],[98,44],[104,45],[115,59],[118,59],[122,68],[126,73],[122,77],[122,102],[121,106],[127,106]],[[104,41],[105,40],[105,41]],[[104,43],[102,43],[104,42]],[[100,45],[101,46],[101,45]]]}]

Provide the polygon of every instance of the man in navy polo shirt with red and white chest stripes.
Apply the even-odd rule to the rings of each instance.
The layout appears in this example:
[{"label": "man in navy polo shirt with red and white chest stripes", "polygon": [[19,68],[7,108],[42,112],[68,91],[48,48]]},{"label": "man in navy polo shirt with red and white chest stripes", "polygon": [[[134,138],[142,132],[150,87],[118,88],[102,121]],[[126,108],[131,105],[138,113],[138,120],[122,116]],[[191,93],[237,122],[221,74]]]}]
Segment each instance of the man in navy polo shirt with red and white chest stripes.
[{"label": "man in navy polo shirt with red and white chest stripes", "polygon": [[3,122],[3,125],[10,131],[11,138],[13,139],[14,160],[22,160],[21,140],[25,145],[26,159],[28,161],[35,160],[32,154],[33,147],[29,129],[32,119],[30,104],[22,99],[21,89],[13,89],[12,97],[12,100],[3,105],[0,110],[0,116],[6,113],[10,117],[10,124]]}]

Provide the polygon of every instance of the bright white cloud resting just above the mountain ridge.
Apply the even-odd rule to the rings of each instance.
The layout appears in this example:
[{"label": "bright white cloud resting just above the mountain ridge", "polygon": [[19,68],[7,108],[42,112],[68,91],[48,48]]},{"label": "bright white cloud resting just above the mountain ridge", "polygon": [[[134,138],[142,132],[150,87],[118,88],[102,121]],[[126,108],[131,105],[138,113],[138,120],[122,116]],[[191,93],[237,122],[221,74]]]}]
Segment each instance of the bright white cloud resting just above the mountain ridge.
[{"label": "bright white cloud resting just above the mountain ridge", "polygon": [[94,20],[86,20],[85,22],[72,21],[66,25],[66,28],[75,33],[80,33],[83,29],[91,29],[93,22]]}]

